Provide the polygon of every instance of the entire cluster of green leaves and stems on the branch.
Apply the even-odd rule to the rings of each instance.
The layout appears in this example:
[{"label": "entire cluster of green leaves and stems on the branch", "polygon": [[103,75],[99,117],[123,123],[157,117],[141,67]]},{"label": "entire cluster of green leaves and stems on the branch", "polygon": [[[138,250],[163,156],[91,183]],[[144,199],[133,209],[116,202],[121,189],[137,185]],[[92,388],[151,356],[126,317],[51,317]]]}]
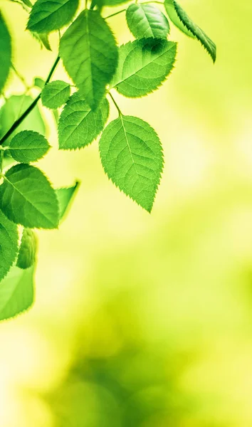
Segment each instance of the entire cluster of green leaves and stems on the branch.
[{"label": "entire cluster of green leaves and stems on the branch", "polygon": [[[0,320],[31,306],[37,258],[33,229],[58,228],[79,185],[54,189],[41,169],[30,164],[50,149],[40,100],[56,119],[59,149],[83,148],[101,134],[100,159],[105,173],[151,212],[164,166],[162,144],[147,122],[121,112],[112,91],[142,97],[165,82],[177,55],[177,43],[168,40],[170,23],[199,40],[216,59],[215,44],[175,0],[132,3],[110,16],[105,16],[105,6],[127,1],[87,0],[84,10],[78,0],[15,3],[27,11],[27,29],[42,46],[51,49],[51,31],[63,28],[63,35],[59,32],[58,57],[48,77],[34,76],[33,88],[40,92],[33,98],[15,68],[14,38],[0,11],[0,93],[4,100],[0,109]],[[124,12],[135,41],[118,47],[109,21]],[[11,17],[6,18],[9,22]],[[51,81],[61,60],[73,84]],[[11,70],[26,85],[23,95],[4,95]],[[108,100],[117,108],[118,118],[106,126]]]}]

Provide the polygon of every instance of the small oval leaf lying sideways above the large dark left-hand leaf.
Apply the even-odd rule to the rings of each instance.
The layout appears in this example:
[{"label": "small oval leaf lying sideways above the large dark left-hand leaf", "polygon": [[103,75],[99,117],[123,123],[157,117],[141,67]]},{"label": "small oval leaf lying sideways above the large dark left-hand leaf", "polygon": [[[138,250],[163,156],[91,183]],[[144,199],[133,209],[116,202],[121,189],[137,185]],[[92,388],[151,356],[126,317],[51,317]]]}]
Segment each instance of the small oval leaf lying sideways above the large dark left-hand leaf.
[{"label": "small oval leaf lying sideways above the large dark left-hand leaf", "polygon": [[36,162],[48,152],[49,148],[46,138],[32,130],[19,132],[9,144],[11,156],[21,163]]}]

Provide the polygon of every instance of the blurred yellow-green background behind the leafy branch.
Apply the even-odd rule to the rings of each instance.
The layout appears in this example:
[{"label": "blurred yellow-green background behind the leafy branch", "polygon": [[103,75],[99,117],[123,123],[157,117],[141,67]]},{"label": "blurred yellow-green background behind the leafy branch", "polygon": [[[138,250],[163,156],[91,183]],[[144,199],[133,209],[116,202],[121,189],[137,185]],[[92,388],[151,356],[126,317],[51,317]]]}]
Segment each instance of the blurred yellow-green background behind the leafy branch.
[{"label": "blurred yellow-green background behind the leafy branch", "polygon": [[[21,6],[0,1],[16,68],[45,78],[57,35],[41,50]],[[36,304],[0,325],[1,427],[252,426],[252,2],[181,3],[216,65],[173,28],[167,83],[141,100],[115,93],[162,140],[151,215],[108,181],[97,142],[58,152],[43,110],[41,168],[82,184],[60,230],[39,232]],[[123,14],[110,24],[131,38]],[[6,94],[22,90],[12,75]]]}]

